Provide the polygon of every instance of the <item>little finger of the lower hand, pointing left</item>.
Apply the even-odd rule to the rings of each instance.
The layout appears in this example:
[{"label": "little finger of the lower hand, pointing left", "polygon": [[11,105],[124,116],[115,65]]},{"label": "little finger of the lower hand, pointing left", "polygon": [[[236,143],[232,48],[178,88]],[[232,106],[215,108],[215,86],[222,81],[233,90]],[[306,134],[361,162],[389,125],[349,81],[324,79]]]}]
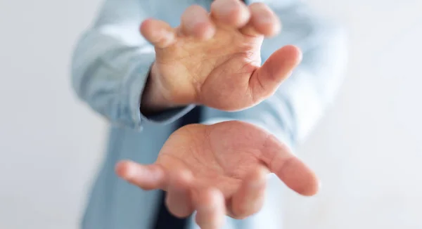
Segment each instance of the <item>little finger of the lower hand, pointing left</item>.
[{"label": "little finger of the lower hand, pointing left", "polygon": [[135,162],[122,161],[115,166],[115,172],[120,178],[139,186],[143,190],[165,189],[167,178],[160,166],[141,165]]}]

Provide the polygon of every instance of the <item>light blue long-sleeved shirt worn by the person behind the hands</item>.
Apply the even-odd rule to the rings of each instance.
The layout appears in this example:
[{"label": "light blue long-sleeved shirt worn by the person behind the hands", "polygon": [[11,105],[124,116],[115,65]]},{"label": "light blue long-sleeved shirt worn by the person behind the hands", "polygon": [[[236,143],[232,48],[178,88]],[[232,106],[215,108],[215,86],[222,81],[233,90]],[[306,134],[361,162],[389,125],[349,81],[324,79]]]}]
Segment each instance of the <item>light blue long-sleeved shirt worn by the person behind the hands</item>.
[{"label": "light blue long-sleeved shirt worn by the person behind the hands", "polygon": [[[79,40],[72,61],[72,83],[79,98],[106,117],[112,127],[105,160],[87,202],[86,229],[149,229],[158,207],[158,191],[143,191],[114,173],[120,159],[155,162],[162,144],[177,128],[177,119],[193,105],[143,115],[140,101],[154,48],[139,33],[146,18],[176,27],[184,10],[212,0],[106,0],[98,18]],[[253,1],[248,1],[248,4]],[[286,44],[302,49],[303,60],[278,91],[240,112],[205,107],[203,123],[238,119],[262,126],[294,148],[323,114],[337,91],[345,63],[345,35],[295,0],[267,0],[283,23],[279,36],[264,40],[262,60]],[[228,219],[225,228],[281,228],[283,185],[270,178],[267,202],[244,221]],[[196,225],[192,223],[192,228]]]}]

